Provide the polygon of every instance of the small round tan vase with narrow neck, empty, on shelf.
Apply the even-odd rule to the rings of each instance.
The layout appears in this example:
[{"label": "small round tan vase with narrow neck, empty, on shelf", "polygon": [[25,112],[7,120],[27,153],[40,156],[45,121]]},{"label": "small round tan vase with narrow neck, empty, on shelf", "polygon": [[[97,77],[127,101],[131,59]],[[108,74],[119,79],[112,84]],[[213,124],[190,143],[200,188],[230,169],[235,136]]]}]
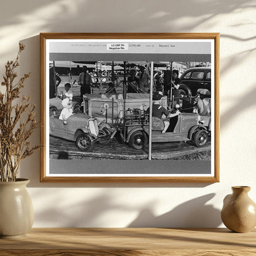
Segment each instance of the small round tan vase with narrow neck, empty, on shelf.
[{"label": "small round tan vase with narrow neck, empty, on shelf", "polygon": [[231,231],[247,233],[256,226],[256,204],[249,198],[249,186],[232,186],[233,194],[223,200],[222,221]]}]

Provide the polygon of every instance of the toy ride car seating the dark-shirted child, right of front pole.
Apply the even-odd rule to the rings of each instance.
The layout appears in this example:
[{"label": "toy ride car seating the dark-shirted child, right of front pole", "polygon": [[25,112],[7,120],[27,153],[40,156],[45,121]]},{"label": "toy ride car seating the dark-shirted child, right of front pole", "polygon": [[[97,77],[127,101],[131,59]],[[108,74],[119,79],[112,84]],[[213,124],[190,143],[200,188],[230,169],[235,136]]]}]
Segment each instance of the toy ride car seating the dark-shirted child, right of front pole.
[{"label": "toy ride car seating the dark-shirted child, right of front pole", "polygon": [[[121,138],[132,148],[142,149],[149,138],[149,114],[144,110],[124,111],[124,117],[116,122]],[[187,142],[196,146],[206,145],[210,137],[210,116],[200,116],[196,113],[180,113],[170,118],[166,132],[162,119],[152,118],[152,142]]]}]

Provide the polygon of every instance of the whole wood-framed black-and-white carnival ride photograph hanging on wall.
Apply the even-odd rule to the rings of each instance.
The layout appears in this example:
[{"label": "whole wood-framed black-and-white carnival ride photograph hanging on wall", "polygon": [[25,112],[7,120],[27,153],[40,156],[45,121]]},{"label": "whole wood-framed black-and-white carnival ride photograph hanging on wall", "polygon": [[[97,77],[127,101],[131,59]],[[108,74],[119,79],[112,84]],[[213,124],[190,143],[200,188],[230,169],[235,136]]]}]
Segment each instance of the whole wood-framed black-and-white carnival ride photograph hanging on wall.
[{"label": "whole wood-framed black-and-white carnival ride photograph hanging on wall", "polygon": [[218,33],[41,33],[41,182],[219,182]]}]

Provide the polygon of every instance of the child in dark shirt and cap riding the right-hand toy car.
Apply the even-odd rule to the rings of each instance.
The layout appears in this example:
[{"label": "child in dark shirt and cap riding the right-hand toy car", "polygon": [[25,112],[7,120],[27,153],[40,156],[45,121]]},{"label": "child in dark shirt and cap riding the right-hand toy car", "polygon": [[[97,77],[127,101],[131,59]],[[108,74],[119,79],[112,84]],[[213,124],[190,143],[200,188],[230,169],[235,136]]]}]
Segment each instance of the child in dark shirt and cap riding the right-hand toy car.
[{"label": "child in dark shirt and cap riding the right-hand toy car", "polygon": [[[180,114],[180,111],[178,110],[174,114],[171,114],[169,111],[167,111],[166,108],[161,105],[161,98],[161,94],[153,94],[152,116],[162,119],[163,114],[166,116],[166,118],[173,118],[174,116],[178,116],[178,114]],[[147,113],[149,112],[150,108],[147,110]],[[162,132],[166,132],[169,124],[169,121],[164,121],[164,130]]]}]

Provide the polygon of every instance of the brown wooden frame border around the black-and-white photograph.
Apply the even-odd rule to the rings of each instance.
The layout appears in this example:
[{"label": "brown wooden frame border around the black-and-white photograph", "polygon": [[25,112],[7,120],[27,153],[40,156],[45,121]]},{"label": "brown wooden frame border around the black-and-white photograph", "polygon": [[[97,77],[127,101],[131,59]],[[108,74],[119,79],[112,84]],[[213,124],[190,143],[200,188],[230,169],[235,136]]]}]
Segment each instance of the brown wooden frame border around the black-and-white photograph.
[{"label": "brown wooden frame border around the black-and-white photograph", "polygon": [[214,183],[220,181],[219,159],[219,33],[41,33],[41,145],[46,145],[46,40],[47,39],[214,39],[215,49],[215,154],[214,177],[47,177],[46,148],[41,148],[41,182],[198,182]]}]

